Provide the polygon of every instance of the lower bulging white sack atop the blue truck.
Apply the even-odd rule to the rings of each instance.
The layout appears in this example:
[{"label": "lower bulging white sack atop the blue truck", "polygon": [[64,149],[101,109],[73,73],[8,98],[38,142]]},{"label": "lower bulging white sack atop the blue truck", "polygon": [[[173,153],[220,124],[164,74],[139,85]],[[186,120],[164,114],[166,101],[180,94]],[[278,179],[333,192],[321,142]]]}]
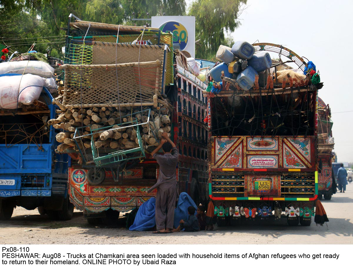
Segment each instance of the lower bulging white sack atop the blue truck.
[{"label": "lower bulging white sack atop the blue truck", "polygon": [[16,109],[17,102],[25,105],[32,104],[41,95],[43,85],[43,78],[36,75],[0,77],[0,108]]}]

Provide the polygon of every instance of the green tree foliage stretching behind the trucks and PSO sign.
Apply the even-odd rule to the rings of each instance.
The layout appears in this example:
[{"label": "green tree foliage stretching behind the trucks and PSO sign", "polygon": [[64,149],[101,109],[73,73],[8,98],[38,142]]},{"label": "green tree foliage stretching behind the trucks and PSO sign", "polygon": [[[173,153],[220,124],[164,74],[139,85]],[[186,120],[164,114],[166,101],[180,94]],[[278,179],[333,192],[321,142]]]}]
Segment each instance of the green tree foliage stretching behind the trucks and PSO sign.
[{"label": "green tree foliage stretching behind the trucks and PSO sign", "polygon": [[[214,60],[220,44],[232,46],[226,32],[239,26],[243,4],[246,0],[192,2],[187,15],[196,17],[197,58]],[[65,32],[60,28],[67,27],[70,13],[94,22],[143,25],[148,21],[132,18],[182,16],[186,15],[185,7],[185,0],[0,0],[0,41],[11,45],[10,52],[21,53],[36,42],[38,52],[46,53],[50,46],[52,56],[62,58]]]}]

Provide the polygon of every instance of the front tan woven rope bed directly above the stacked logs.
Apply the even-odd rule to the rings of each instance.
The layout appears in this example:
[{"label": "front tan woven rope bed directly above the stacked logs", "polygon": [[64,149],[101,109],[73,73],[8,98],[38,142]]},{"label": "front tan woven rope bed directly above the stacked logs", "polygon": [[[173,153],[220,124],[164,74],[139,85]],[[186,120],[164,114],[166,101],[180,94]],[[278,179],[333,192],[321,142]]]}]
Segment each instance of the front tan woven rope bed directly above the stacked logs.
[{"label": "front tan woven rope bed directly above the stacked logs", "polygon": [[[156,105],[160,61],[112,65],[62,65],[62,108]],[[155,96],[154,96],[155,95]]]}]

